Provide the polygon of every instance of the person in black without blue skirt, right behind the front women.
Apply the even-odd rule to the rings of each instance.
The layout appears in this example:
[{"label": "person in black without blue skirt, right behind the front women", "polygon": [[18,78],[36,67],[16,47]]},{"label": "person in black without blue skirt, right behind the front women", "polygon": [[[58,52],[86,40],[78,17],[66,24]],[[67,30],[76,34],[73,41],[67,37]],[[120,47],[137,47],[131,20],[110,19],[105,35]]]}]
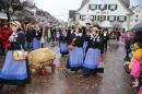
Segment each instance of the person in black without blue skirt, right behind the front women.
[{"label": "person in black without blue skirt, right behind the front women", "polygon": [[108,40],[109,40],[109,35],[108,35],[108,32],[107,30],[103,30],[103,45],[104,45],[104,49],[105,51],[107,50],[107,44],[108,44]]}]

